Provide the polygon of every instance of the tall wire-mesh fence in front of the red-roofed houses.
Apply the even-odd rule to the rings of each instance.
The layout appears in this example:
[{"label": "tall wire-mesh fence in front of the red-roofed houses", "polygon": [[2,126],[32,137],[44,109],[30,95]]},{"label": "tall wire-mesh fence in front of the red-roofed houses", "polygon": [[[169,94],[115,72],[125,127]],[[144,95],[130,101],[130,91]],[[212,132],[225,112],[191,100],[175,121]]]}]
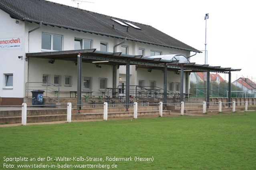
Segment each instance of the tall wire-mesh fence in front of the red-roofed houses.
[{"label": "tall wire-mesh fence in front of the red-roofed houses", "polygon": [[[228,74],[210,72],[210,97],[228,97]],[[192,97],[206,97],[207,73],[191,72]],[[256,77],[231,72],[231,97],[256,98]]]}]

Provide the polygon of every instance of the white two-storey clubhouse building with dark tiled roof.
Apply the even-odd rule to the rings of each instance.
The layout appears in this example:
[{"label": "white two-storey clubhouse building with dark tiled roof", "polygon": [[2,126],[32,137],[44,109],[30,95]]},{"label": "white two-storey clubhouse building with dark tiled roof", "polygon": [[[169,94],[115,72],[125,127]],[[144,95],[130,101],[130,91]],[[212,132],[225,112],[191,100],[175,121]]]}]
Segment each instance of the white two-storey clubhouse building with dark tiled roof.
[{"label": "white two-storey clubhouse building with dark tiled roof", "polygon": [[[107,92],[107,88],[127,84],[125,64],[117,62],[118,58],[135,60],[130,66],[130,86],[163,89],[162,63],[168,61],[136,56],[181,54],[189,57],[190,52],[200,52],[151,26],[46,0],[0,0],[0,16],[1,105],[21,104],[24,97],[31,95],[28,94],[31,86],[40,90],[47,85],[45,96],[71,97],[78,89],[79,53],[87,57],[83,58],[81,71],[82,95],[98,96],[106,95],[103,92]],[[100,63],[95,57],[111,60]],[[154,64],[161,68],[155,69]],[[183,76],[182,72],[185,82],[182,86],[180,70],[177,70],[181,67],[168,66],[167,90],[189,92],[189,74],[186,72]],[[201,66],[194,68],[198,67]],[[58,91],[56,88],[59,94],[54,94]],[[119,90],[119,95],[122,94],[124,89]]]}]

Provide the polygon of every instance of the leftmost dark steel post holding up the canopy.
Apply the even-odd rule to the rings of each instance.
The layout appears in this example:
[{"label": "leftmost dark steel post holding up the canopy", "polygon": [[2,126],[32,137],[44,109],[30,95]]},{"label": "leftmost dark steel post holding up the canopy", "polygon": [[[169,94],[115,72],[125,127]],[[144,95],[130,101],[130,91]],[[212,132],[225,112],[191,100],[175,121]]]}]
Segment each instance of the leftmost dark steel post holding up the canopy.
[{"label": "leftmost dark steel post holding up the canopy", "polygon": [[77,55],[77,113],[81,110],[82,57]]}]

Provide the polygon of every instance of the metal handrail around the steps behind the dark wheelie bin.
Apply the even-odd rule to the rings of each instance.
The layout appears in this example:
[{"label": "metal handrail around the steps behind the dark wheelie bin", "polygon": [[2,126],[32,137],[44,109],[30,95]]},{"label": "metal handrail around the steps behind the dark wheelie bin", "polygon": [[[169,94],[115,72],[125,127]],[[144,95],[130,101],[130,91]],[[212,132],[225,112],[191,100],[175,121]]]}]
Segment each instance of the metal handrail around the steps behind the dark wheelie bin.
[{"label": "metal handrail around the steps behind the dark wheelie bin", "polygon": [[[29,87],[29,86],[28,86],[29,83],[41,83],[41,84],[45,84],[45,85],[42,85],[42,86],[31,86],[31,87]],[[54,86],[54,87],[57,87],[58,90],[55,90],[54,88],[50,87],[49,85],[52,85],[52,86]],[[26,97],[30,97],[30,96],[28,96],[28,92],[29,92],[29,90],[35,90],[34,88],[40,88],[40,89],[38,89],[38,90],[46,90],[46,97],[48,97],[48,98],[50,98],[50,99],[52,99],[52,100],[55,100],[55,101],[57,101],[58,103],[60,102],[60,87],[57,86],[56,84],[52,84],[52,83],[50,83],[50,82],[26,82],[26,84],[25,84],[25,93],[26,93]],[[50,91],[48,91],[48,90],[50,90]],[[58,91],[58,96],[57,96],[57,97],[58,97],[58,100],[56,100],[55,98],[52,98],[52,97],[48,96],[48,93],[55,95],[55,92],[54,92],[54,91]],[[31,91],[30,91],[30,92],[31,92]],[[54,93],[52,93],[52,92],[54,92]]]}]

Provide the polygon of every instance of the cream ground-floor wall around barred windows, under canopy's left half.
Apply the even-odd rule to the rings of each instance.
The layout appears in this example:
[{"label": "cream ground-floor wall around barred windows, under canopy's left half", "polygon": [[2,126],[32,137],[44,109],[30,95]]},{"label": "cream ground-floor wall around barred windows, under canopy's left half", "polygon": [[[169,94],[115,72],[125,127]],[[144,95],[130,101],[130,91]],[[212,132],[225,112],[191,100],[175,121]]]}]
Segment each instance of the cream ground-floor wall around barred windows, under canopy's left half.
[{"label": "cream ground-floor wall around barred windows, under canopy's left half", "polygon": [[[77,91],[77,66],[71,61],[55,60],[53,64],[48,63],[48,59],[30,58],[29,59],[29,82],[42,82],[42,74],[51,75],[51,83],[54,83],[54,74],[61,75],[60,91]],[[82,92],[87,95],[86,91],[93,91],[93,95],[101,95],[99,91],[99,78],[108,78],[107,87],[113,85],[113,67],[108,65],[100,65],[96,68],[95,64],[82,64]],[[93,70],[93,71],[92,71]],[[65,86],[65,75],[72,76],[72,86]],[[83,77],[93,78],[93,89],[83,90]],[[38,84],[42,86],[41,84]],[[107,94],[106,94],[107,95]],[[69,93],[60,93],[60,97],[69,97]]]}]

